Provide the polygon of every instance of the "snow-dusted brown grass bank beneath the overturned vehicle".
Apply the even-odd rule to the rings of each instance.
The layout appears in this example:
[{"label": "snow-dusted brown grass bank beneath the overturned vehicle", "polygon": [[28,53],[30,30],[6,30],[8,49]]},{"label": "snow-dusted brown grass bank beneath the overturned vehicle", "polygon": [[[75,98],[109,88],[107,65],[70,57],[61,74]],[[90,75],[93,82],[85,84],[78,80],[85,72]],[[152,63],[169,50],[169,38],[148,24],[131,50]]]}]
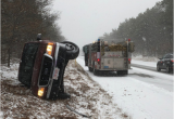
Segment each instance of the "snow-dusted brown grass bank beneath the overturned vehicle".
[{"label": "snow-dusted brown grass bank beneath the overturned vehicle", "polygon": [[40,100],[30,90],[21,87],[17,81],[18,64],[13,63],[10,68],[1,66],[1,111],[0,119],[82,119],[83,117],[70,111],[66,105],[77,111],[92,116],[91,119],[130,119],[113,102],[110,96],[88,74],[71,61],[65,69],[65,92],[70,100]]}]

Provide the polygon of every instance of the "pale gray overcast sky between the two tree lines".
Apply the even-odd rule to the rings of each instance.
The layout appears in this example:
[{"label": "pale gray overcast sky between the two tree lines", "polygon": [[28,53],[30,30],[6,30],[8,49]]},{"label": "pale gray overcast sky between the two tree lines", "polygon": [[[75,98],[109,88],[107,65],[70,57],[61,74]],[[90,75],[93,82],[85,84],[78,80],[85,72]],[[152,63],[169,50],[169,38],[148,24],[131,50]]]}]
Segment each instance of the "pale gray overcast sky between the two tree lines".
[{"label": "pale gray overcast sky between the two tree lines", "polygon": [[111,32],[125,18],[136,17],[161,0],[54,0],[62,35],[79,49]]}]

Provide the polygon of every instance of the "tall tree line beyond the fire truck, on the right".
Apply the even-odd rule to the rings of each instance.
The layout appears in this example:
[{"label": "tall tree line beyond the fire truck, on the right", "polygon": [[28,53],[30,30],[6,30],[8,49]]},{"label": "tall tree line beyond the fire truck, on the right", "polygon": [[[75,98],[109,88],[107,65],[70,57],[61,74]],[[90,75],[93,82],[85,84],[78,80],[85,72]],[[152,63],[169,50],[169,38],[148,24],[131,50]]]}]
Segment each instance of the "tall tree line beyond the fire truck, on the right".
[{"label": "tall tree line beyond the fire truck, on the right", "polygon": [[117,29],[103,35],[109,41],[135,42],[134,54],[162,56],[173,52],[173,0],[157,2],[137,17],[125,19]]}]

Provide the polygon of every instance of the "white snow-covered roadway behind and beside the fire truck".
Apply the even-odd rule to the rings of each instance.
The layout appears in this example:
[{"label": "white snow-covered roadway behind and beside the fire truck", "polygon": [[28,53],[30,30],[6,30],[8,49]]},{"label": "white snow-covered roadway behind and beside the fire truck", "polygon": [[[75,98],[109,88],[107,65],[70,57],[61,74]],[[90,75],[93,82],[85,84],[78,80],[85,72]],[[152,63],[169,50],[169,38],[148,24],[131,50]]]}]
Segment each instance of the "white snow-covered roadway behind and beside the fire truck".
[{"label": "white snow-covered roadway behind and beside the fire truck", "polygon": [[[147,61],[139,61],[139,63],[154,66],[157,62],[152,61],[153,63]],[[173,83],[173,76],[135,67],[132,67],[129,75],[124,77],[116,75],[94,76],[85,67],[84,57],[79,56],[77,62],[92,80],[113,96],[114,103],[133,119],[173,119],[173,91],[137,80],[137,78],[141,78],[153,81],[163,78],[163,80],[169,80],[171,81],[170,83]]]}]

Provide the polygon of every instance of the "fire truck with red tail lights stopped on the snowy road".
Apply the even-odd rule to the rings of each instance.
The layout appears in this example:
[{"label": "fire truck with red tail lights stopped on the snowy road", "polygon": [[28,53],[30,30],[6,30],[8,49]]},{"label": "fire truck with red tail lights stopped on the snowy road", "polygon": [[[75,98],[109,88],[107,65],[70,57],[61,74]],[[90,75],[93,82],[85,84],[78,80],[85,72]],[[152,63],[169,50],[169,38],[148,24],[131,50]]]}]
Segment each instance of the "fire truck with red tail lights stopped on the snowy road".
[{"label": "fire truck with red tail lights stopped on the snowy road", "polygon": [[100,38],[94,43],[83,47],[85,66],[88,66],[89,71],[92,71],[94,75],[102,71],[116,71],[117,75],[127,75],[134,47],[130,39],[122,42],[109,42]]}]

